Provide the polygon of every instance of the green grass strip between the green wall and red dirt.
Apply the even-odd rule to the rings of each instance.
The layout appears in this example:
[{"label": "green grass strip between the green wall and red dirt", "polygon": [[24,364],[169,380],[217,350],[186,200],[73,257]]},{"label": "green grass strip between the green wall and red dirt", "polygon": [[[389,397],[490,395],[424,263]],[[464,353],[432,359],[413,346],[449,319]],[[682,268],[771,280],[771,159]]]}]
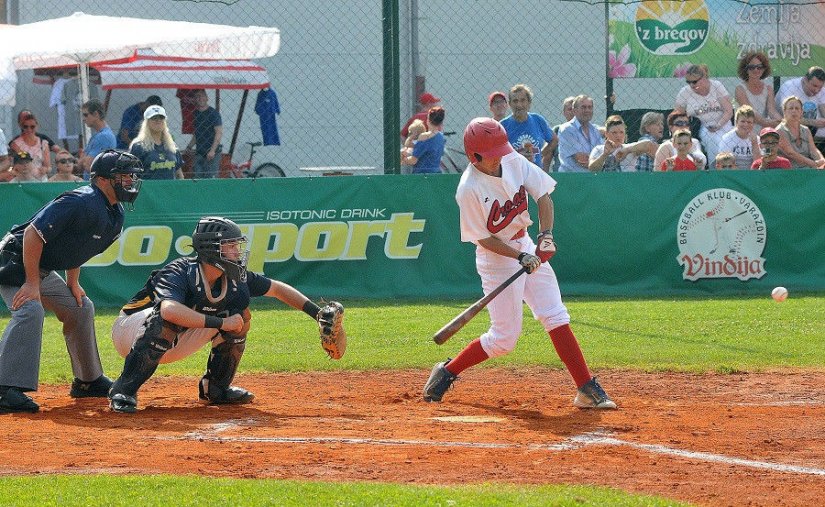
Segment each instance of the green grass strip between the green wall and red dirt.
[{"label": "green grass strip between the green wall and red dirt", "polygon": [[[449,342],[430,339],[472,301],[345,301],[347,354],[331,361],[321,351],[317,326],[302,312],[259,301],[241,372],[429,368],[458,352],[489,325],[482,312]],[[566,302],[573,330],[595,369],[733,372],[782,368],[822,369],[825,297],[794,296],[784,303],[762,298],[592,300]],[[109,330],[115,311],[98,312],[96,326],[105,371],[117,375],[123,360]],[[5,327],[8,313],[0,315]],[[200,375],[208,347],[184,361],[161,365],[159,375]],[[480,367],[544,365],[561,368],[549,338],[524,308],[516,350]],[[71,381],[60,323],[45,323],[41,381]]]}]

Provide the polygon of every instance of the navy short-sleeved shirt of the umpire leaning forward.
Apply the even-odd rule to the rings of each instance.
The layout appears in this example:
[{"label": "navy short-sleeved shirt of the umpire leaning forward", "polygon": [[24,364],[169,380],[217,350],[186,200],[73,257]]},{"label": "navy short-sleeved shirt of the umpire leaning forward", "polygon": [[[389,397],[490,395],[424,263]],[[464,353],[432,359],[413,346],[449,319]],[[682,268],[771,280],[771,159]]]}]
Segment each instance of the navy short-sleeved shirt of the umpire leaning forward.
[{"label": "navy short-sleeved shirt of the umpire leaning forward", "polygon": [[109,200],[95,185],[64,192],[43,206],[11,234],[23,244],[23,231],[32,224],[45,242],[40,268],[79,268],[109,248],[123,228],[123,206]]}]

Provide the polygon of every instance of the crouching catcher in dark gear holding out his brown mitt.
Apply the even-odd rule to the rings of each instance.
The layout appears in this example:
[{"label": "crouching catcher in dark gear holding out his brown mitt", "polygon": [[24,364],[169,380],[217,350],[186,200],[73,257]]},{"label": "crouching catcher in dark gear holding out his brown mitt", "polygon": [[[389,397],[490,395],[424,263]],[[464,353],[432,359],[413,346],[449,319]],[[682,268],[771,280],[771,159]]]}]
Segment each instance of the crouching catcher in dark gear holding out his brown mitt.
[{"label": "crouching catcher in dark gear holding out his brown mitt", "polygon": [[159,363],[183,359],[206,343],[212,351],[199,397],[210,404],[247,403],[254,395],[231,385],[246,345],[251,296],[278,298],[318,322],[321,346],[333,359],[346,350],[344,308],[323,308],[294,287],[248,273],[247,239],[231,220],[204,217],[192,234],[196,257],[181,257],[152,272],[121,310],[112,328],[115,349],[126,358],[109,391],[115,412],[137,411],[137,391]]}]

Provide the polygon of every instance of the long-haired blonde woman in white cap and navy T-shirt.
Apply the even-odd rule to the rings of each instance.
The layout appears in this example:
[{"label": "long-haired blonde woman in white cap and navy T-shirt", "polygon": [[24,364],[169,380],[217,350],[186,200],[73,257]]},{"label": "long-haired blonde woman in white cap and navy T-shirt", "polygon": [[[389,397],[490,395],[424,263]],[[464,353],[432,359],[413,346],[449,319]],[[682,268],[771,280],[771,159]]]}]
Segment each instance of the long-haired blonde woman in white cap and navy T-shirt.
[{"label": "long-haired blonde woman in white cap and navy T-shirt", "polygon": [[163,106],[152,105],[143,112],[143,123],[129,146],[129,152],[140,159],[143,179],[183,179],[183,161],[166,125]]}]

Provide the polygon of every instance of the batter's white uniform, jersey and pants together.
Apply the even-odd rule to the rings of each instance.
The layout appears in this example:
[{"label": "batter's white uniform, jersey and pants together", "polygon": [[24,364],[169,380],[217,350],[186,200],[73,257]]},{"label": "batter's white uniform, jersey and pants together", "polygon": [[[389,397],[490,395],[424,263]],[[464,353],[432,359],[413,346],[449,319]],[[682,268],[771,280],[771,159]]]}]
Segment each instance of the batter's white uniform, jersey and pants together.
[{"label": "batter's white uniform, jersey and pants together", "polygon": [[[538,199],[555,188],[556,180],[518,153],[501,159],[500,178],[484,174],[472,165],[461,175],[455,196],[461,240],[477,245],[476,270],[485,294],[521,265],[516,259],[487,250],[478,241],[495,236],[520,252],[533,253],[536,245],[530,236],[518,234],[533,223],[528,211],[529,198]],[[547,331],[570,322],[556,274],[550,264],[544,263],[533,273],[519,277],[487,305],[490,329],[481,335],[480,341],[489,357],[507,354],[515,347],[521,334],[523,302]]]}]

